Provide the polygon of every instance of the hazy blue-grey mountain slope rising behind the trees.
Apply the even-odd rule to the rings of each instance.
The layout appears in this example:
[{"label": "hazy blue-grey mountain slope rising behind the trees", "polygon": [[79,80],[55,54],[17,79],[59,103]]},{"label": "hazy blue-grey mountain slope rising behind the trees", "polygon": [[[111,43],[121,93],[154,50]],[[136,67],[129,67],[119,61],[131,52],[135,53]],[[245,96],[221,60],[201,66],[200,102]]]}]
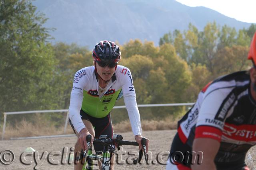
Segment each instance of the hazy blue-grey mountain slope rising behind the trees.
[{"label": "hazy blue-grey mountain slope rising behind the trees", "polygon": [[77,43],[90,49],[100,40],[130,39],[154,41],[174,29],[184,30],[192,23],[202,30],[216,21],[241,29],[250,23],[228,18],[204,7],[189,7],[175,0],[36,0],[40,12],[49,18],[46,27],[54,27],[54,42]]}]

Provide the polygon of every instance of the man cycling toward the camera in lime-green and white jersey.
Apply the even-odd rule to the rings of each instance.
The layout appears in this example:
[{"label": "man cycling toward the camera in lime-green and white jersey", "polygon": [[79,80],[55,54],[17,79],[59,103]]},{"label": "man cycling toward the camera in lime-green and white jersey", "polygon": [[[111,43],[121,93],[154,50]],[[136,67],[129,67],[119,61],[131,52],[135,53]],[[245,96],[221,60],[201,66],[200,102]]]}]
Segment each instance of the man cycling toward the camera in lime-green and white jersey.
[{"label": "man cycling toward the camera in lime-green and white jersey", "polygon": [[[73,88],[70,96],[69,122],[78,137],[75,145],[75,170],[82,169],[81,150],[87,150],[86,136],[113,136],[110,111],[116,101],[124,96],[124,103],[128,112],[132,131],[136,142],[142,148],[142,129],[140,114],[136,103],[136,94],[132,75],[127,67],[118,65],[121,52],[118,45],[111,41],[100,41],[92,51],[93,66],[78,70],[74,76]],[[149,140],[146,142],[148,150]],[[94,150],[101,152],[103,146],[94,143]],[[80,156],[80,160],[79,160]],[[114,156],[111,158],[111,169],[114,169]]]}]

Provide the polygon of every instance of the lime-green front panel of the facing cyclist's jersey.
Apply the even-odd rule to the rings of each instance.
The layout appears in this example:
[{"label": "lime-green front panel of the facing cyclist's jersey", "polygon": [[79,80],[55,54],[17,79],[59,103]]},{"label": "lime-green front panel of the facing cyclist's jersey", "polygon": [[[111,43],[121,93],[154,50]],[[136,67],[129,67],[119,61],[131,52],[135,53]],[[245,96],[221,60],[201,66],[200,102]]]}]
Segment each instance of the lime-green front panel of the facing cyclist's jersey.
[{"label": "lime-green front panel of the facing cyclist's jersey", "polygon": [[82,102],[82,110],[88,115],[96,118],[106,117],[113,109],[116,100],[120,98],[122,89],[117,91],[110,89],[100,99],[97,90],[83,91],[84,98]]}]

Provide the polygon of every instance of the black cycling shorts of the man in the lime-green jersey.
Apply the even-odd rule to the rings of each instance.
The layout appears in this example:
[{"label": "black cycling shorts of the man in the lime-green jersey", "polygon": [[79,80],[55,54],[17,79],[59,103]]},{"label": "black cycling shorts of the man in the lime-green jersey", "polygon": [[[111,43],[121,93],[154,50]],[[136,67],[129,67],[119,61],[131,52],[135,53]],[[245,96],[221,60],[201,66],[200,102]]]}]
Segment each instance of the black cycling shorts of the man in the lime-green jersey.
[{"label": "black cycling shorts of the man in the lime-green jersey", "polygon": [[[106,115],[106,117],[102,117],[102,118],[96,118],[96,117],[92,117],[90,115],[88,115],[87,113],[85,113],[82,109],[80,110],[80,115],[82,116],[82,120],[88,120],[92,123],[93,127],[94,127],[94,131],[95,131],[95,138],[98,139],[100,137],[100,135],[108,135],[108,138],[113,137],[113,126],[112,126],[112,122],[111,122],[111,116],[110,113],[108,113],[108,115]],[[69,123],[75,133],[75,129],[74,126],[71,122],[71,120],[69,119]],[[78,132],[79,133],[79,132]],[[76,133],[75,133],[76,134]],[[94,146],[94,150],[95,152],[97,151],[102,151],[103,150],[103,146],[98,144],[98,143],[93,143]]]}]

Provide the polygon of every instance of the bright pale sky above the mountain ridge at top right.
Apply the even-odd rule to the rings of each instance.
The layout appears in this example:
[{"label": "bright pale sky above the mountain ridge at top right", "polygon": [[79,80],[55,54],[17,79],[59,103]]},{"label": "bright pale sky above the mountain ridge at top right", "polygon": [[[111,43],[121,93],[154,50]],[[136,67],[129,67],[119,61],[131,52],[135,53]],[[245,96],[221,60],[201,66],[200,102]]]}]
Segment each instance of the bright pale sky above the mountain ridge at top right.
[{"label": "bright pale sky above the mountain ridge at top right", "polygon": [[238,21],[256,23],[256,0],[176,0],[186,6],[204,6]]}]

